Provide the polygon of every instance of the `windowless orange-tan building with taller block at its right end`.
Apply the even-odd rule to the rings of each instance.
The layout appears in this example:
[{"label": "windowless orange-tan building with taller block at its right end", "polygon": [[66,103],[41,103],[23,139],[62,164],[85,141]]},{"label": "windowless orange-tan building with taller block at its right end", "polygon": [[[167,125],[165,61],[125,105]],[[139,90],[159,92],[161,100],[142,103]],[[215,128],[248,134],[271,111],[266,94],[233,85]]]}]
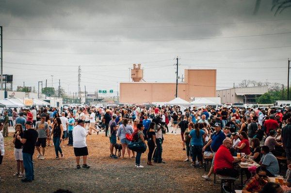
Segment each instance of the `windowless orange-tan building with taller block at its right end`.
[{"label": "windowless orange-tan building with taller block at its right end", "polygon": [[[178,83],[178,97],[215,97],[216,70],[185,70],[185,82]],[[176,97],[176,83],[121,82],[120,103],[168,102]]]}]

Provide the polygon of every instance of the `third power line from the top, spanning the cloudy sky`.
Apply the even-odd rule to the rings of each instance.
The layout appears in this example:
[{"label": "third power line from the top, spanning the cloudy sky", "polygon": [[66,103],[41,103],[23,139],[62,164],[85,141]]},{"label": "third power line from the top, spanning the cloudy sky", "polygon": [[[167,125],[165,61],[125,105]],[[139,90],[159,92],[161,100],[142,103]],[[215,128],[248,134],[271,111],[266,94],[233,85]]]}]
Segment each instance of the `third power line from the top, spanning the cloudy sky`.
[{"label": "third power line from the top, spanning the cloudy sky", "polygon": [[227,49],[227,50],[206,50],[206,51],[171,51],[171,52],[148,52],[148,53],[72,53],[72,52],[32,52],[32,51],[3,51],[13,53],[33,53],[33,54],[73,54],[73,55],[149,55],[149,54],[186,54],[186,53],[210,53],[210,52],[229,52],[229,51],[245,51],[245,50],[260,50],[260,49],[274,49],[286,48],[291,45],[274,46],[274,47],[258,47],[258,48],[244,48],[244,49]]}]

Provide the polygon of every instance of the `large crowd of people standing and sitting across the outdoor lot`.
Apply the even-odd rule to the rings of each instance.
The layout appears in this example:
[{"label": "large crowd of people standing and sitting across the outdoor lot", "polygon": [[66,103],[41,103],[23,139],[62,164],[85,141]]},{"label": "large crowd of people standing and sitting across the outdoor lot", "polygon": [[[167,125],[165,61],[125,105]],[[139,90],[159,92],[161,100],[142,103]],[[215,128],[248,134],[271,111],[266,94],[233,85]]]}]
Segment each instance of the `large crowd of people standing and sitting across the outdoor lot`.
[{"label": "large crowd of people standing and sitting across the outdoor lot", "polygon": [[[291,112],[289,108],[237,108],[212,107],[181,109],[179,106],[122,106],[96,108],[94,106],[31,109],[5,109],[1,119],[3,136],[9,135],[8,126],[14,126],[13,143],[17,172],[14,176],[22,181],[32,181],[32,155],[36,148],[37,159],[45,159],[46,146],[53,145],[55,159],[64,158],[62,143],[73,146],[77,168],[83,157],[86,164],[88,149],[86,136],[104,130],[110,141],[110,157],[117,159],[113,148],[121,148],[121,158],[135,157],[135,167],[140,164],[141,151],[132,151],[135,141],[148,147],[147,165],[165,163],[162,158],[164,135],[173,127],[172,134],[181,135],[181,150],[186,152],[185,162],[194,168],[203,167],[203,157],[212,157],[210,172],[202,176],[210,180],[213,173],[237,178],[236,163],[245,162],[242,156],[251,156],[259,167],[256,174],[246,170],[248,181],[243,192],[259,192],[268,183],[268,177],[279,174],[279,163],[275,156],[286,157],[288,170],[284,175],[291,185]],[[2,137],[3,138],[3,137]],[[3,139],[0,136],[0,163],[4,155]],[[52,142],[51,142],[52,140]],[[118,140],[118,142],[117,142]],[[120,143],[120,144],[119,144]],[[40,148],[41,147],[41,148]],[[259,180],[259,181],[258,181]],[[260,181],[261,180],[261,181]],[[258,185],[259,184],[259,185]]]}]

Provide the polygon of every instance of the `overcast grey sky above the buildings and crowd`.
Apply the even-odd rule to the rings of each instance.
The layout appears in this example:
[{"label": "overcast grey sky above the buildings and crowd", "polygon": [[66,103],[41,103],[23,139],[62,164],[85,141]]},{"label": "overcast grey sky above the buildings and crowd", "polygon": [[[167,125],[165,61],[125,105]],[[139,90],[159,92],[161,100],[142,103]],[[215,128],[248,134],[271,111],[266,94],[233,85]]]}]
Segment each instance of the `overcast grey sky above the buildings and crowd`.
[{"label": "overcast grey sky above the buildings and crowd", "polygon": [[[272,0],[0,0],[3,74],[17,85],[117,90],[141,63],[147,82],[217,69],[217,89],[242,79],[287,84],[291,8]],[[131,81],[131,79],[130,79]],[[205,77],[207,81],[207,77]]]}]

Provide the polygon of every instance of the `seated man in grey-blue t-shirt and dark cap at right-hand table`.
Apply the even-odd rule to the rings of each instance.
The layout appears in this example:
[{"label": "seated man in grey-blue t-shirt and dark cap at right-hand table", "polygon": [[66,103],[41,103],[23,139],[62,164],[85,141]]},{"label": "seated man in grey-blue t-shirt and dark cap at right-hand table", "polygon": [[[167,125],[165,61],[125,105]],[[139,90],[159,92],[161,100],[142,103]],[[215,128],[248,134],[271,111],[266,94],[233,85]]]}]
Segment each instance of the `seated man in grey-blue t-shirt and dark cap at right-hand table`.
[{"label": "seated man in grey-blue t-shirt and dark cap at right-hand table", "polygon": [[263,154],[259,164],[267,169],[267,176],[274,177],[279,174],[279,164],[275,155],[270,152],[268,146],[262,146],[261,153]]}]

